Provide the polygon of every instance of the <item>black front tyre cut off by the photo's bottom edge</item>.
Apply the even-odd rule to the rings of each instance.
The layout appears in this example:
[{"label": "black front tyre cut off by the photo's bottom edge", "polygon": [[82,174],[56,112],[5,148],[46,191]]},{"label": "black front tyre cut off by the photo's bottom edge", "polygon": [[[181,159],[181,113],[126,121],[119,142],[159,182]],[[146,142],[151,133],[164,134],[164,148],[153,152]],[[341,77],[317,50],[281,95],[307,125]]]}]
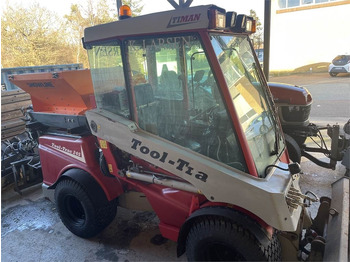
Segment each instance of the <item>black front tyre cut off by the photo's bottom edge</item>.
[{"label": "black front tyre cut off by the photo's bottom edge", "polygon": [[275,234],[263,244],[232,220],[208,217],[192,226],[186,255],[189,261],[280,261],[281,247]]}]

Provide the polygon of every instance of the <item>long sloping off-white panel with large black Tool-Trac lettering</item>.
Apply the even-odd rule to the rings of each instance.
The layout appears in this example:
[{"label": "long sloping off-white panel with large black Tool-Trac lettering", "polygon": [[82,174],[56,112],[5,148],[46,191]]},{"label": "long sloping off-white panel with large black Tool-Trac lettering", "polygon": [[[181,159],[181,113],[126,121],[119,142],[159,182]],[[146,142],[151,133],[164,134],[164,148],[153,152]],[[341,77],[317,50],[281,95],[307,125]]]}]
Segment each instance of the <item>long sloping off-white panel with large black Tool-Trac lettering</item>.
[{"label": "long sloping off-white panel with large black Tool-Trac lettering", "polygon": [[87,111],[86,116],[89,124],[97,124],[94,135],[185,179],[208,200],[243,207],[276,229],[296,230],[301,207],[288,207],[285,197],[291,184],[299,190],[298,176],[292,179],[289,172],[276,169],[265,179],[255,178],[147,133],[134,122],[107,111],[95,109]]}]

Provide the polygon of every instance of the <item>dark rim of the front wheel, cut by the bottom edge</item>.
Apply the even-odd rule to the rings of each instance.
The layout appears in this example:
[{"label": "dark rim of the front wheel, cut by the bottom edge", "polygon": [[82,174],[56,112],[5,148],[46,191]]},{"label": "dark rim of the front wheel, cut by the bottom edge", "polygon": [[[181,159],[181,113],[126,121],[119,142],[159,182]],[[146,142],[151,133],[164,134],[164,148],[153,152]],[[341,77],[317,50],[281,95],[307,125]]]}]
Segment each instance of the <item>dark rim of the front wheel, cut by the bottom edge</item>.
[{"label": "dark rim of the front wheel, cut by the bottom edge", "polygon": [[232,247],[222,243],[210,243],[203,248],[205,261],[245,261],[244,257]]}]

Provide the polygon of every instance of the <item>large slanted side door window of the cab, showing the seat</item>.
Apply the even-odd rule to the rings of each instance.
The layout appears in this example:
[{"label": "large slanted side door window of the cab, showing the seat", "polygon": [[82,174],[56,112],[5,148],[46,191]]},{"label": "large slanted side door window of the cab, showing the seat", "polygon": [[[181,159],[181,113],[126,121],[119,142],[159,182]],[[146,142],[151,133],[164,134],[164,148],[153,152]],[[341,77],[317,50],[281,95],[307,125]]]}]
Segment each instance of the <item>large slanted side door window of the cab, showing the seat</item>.
[{"label": "large slanted side door window of the cab, showing the seat", "polygon": [[231,119],[199,39],[128,40],[140,128],[245,171]]}]

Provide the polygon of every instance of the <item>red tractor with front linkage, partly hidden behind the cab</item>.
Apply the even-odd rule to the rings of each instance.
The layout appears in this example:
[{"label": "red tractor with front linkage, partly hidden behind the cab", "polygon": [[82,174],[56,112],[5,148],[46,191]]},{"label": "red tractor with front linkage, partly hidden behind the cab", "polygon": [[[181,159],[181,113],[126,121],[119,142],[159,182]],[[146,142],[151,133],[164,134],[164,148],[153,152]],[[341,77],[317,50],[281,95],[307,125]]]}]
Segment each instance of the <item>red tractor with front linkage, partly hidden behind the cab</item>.
[{"label": "red tractor with front linkage, partly hidden behind the cab", "polygon": [[[309,119],[312,96],[305,87],[282,83],[268,83],[268,86],[284,132],[289,158],[300,163],[301,157],[306,157],[321,167],[333,170],[341,161],[349,176],[350,120],[343,128],[338,124],[316,125]],[[327,143],[325,134],[330,143]],[[308,138],[310,142],[305,143]],[[311,153],[321,153],[328,159],[320,160]]]}]

